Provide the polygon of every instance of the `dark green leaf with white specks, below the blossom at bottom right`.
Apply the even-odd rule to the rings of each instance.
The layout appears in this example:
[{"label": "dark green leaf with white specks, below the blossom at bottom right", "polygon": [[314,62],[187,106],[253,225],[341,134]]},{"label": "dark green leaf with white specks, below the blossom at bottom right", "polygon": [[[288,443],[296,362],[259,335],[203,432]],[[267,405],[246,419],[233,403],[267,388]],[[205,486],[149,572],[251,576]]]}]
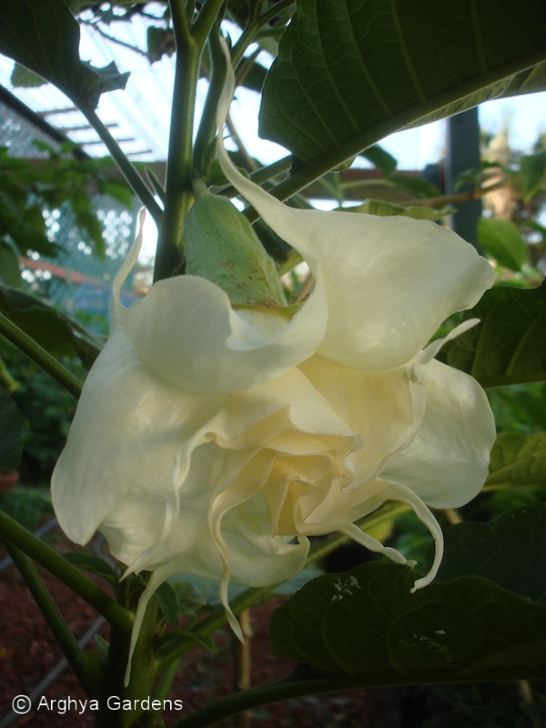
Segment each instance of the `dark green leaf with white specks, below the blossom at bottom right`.
[{"label": "dark green leaf with white specks, below the blossom at bottom right", "polygon": [[426,671],[479,678],[480,662],[516,672],[544,666],[546,607],[479,577],[412,594],[414,581],[407,567],[382,563],[310,581],[273,613],[272,651],[383,684],[397,673],[426,682]]}]

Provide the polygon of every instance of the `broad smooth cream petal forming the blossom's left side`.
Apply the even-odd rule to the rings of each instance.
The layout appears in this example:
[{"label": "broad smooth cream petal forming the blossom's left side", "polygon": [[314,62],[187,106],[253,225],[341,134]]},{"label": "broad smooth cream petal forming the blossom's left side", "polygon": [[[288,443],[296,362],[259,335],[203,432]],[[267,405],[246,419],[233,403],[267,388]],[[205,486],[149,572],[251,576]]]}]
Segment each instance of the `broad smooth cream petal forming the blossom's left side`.
[{"label": "broad smooth cream petal forming the blossom's left side", "polygon": [[107,518],[125,514],[124,551],[152,545],[175,495],[180,442],[225,399],[180,392],[151,376],[116,329],[89,372],[52,477],[52,500],[66,535],[86,543]]}]

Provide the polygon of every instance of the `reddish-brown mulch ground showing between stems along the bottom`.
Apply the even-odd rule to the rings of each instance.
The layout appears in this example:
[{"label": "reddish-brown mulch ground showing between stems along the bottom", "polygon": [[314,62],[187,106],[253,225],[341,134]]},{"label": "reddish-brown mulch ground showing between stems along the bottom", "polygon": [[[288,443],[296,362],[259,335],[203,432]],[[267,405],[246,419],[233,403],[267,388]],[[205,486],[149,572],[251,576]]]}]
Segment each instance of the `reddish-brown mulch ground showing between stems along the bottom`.
[{"label": "reddish-brown mulch ground showing between stems along the bottom", "polygon": [[[60,549],[66,548],[56,536]],[[3,557],[0,553],[0,558]],[[96,612],[77,598],[66,587],[43,574],[45,583],[54,593],[56,603],[68,626],[77,637],[96,620]],[[13,567],[0,573],[0,604],[2,629],[0,632],[0,716],[11,708],[15,695],[30,693],[45,673],[61,658],[56,642],[35,603]],[[268,646],[268,622],[273,604],[254,608],[251,622],[252,684],[273,682],[291,672],[293,663],[273,658]],[[107,632],[104,632],[107,639]],[[180,664],[177,678],[170,693],[171,699],[183,701],[179,712],[165,713],[167,725],[213,701],[216,697],[234,692],[233,640],[227,632],[217,636],[217,654],[198,649],[190,652]],[[68,697],[85,700],[73,672],[67,668],[45,693],[48,701]],[[253,714],[252,728],[366,728],[372,708],[372,693],[355,691],[321,696],[309,696],[286,703],[266,706]],[[27,728],[92,728],[95,714],[87,710],[79,714],[71,710],[65,714],[42,709],[19,718],[14,725]],[[242,723],[233,717],[218,726],[238,728]]]}]

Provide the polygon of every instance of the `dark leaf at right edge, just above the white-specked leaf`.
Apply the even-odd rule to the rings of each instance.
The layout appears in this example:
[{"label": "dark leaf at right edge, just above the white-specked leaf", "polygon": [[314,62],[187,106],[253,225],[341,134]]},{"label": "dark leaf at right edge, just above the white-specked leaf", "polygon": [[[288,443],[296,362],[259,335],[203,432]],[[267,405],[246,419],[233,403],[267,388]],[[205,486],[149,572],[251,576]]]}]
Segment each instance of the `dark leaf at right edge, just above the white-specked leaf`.
[{"label": "dark leaf at right edge, just above the white-specked leaf", "polygon": [[[546,464],[546,440],[542,442]],[[509,466],[510,467],[510,466]],[[542,470],[544,472],[544,470]],[[542,480],[544,482],[544,480]],[[489,523],[460,523],[445,533],[436,581],[481,576],[532,602],[546,603],[546,503],[504,513]]]}]

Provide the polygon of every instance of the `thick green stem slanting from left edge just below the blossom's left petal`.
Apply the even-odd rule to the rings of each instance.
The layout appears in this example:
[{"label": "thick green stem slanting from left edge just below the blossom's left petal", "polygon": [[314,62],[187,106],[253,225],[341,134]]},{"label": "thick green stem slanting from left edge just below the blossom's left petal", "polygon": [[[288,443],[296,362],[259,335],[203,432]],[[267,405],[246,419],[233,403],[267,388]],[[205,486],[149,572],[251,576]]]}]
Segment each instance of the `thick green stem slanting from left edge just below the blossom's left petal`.
[{"label": "thick green stem slanting from left edge just below the blossom's left petal", "polygon": [[21,526],[17,521],[0,511],[0,536],[13,543],[27,556],[41,564],[47,571],[63,581],[67,587],[78,594],[112,625],[129,628],[133,623],[133,614],[124,609],[104,591],[99,589],[81,571],[66,561],[56,551]]}]

